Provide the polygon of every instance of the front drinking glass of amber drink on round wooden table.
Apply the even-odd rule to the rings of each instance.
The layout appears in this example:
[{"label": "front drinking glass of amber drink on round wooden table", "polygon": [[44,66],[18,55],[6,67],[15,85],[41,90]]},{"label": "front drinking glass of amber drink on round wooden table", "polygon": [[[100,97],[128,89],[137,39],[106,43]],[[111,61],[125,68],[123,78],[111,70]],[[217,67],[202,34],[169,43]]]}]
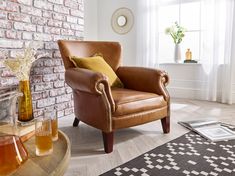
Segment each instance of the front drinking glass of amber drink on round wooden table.
[{"label": "front drinking glass of amber drink on round wooden table", "polygon": [[44,156],[53,152],[51,119],[46,113],[43,118],[37,118],[35,122],[36,155]]}]

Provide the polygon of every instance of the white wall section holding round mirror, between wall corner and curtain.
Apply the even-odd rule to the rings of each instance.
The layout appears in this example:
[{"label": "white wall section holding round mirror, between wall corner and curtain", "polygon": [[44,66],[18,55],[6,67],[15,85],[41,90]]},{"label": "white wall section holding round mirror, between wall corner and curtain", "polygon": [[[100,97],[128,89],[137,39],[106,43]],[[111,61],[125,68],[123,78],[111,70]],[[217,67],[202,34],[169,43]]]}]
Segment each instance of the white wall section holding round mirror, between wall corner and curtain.
[{"label": "white wall section holding round mirror, between wall corner and curtain", "polygon": [[98,0],[98,39],[102,41],[118,41],[122,45],[122,64],[134,65],[136,58],[135,16],[132,30],[124,35],[115,33],[111,26],[111,17],[115,10],[126,7],[136,14],[136,1],[133,0]]}]

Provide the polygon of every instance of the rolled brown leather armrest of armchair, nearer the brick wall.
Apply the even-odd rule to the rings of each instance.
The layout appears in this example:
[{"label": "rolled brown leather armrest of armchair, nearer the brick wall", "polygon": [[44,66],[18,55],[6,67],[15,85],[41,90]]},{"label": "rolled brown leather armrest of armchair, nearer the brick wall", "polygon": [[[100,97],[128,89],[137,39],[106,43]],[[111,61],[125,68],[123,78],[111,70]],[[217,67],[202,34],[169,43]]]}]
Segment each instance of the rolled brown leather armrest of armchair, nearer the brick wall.
[{"label": "rolled brown leather armrest of armchair, nearer the brick wall", "polygon": [[73,89],[94,95],[106,94],[112,112],[114,100],[107,77],[99,72],[83,68],[69,68],[65,71],[65,82]]}]

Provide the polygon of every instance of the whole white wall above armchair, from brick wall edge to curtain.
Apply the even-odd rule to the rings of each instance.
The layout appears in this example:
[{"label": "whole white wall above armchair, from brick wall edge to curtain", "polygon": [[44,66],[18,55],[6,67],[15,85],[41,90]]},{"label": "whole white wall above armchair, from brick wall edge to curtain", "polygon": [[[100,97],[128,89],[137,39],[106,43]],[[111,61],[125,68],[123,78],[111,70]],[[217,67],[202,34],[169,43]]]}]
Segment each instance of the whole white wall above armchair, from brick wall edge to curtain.
[{"label": "whole white wall above armchair, from brick wall edge to curtain", "polygon": [[136,13],[136,1],[133,0],[84,0],[85,40],[118,41],[122,45],[122,65],[135,65],[136,27],[135,17],[132,30],[124,35],[115,33],[111,26],[111,17],[115,10],[126,7]]}]

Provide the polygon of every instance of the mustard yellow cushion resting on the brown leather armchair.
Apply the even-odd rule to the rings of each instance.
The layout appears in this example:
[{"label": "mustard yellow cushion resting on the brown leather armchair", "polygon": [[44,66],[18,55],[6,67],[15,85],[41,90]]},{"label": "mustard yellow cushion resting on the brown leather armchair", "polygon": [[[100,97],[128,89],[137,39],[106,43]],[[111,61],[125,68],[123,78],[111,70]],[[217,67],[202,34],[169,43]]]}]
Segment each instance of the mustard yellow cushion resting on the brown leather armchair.
[{"label": "mustard yellow cushion resting on the brown leather armchair", "polygon": [[111,87],[124,87],[121,80],[117,77],[116,73],[101,56],[93,56],[86,58],[72,56],[70,57],[70,60],[76,67],[86,68],[89,70],[103,73],[108,77],[108,82]]}]

